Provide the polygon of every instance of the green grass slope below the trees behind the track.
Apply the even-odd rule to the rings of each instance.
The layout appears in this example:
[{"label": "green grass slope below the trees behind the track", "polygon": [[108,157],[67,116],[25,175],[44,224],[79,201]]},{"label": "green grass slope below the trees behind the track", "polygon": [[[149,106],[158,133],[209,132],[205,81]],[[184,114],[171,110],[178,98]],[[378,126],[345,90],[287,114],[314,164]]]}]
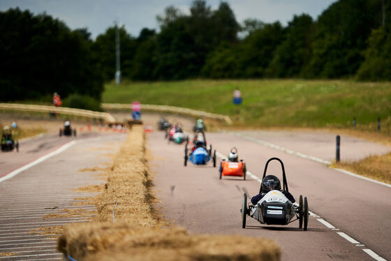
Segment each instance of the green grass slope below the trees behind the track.
[{"label": "green grass slope below the trees behind the track", "polygon": [[[239,87],[243,104],[235,116],[233,91]],[[104,103],[140,103],[189,107],[226,114],[239,126],[351,127],[391,133],[391,82],[349,80],[186,80],[124,82],[105,85]]]}]

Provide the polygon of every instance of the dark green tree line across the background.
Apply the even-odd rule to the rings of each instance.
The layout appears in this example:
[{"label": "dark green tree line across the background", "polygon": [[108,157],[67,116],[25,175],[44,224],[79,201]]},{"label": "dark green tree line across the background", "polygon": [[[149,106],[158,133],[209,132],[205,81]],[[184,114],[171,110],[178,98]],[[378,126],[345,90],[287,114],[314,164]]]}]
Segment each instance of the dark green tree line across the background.
[{"label": "dark green tree line across the background", "polygon": [[[391,80],[391,3],[339,0],[316,20],[295,15],[286,26],[237,22],[227,2],[215,10],[194,0],[190,13],[175,6],[159,28],[131,36],[119,28],[121,72],[130,80],[186,78],[344,78]],[[92,40],[47,14],[0,12],[1,100],[59,91],[100,98],[115,75],[114,26]]]}]

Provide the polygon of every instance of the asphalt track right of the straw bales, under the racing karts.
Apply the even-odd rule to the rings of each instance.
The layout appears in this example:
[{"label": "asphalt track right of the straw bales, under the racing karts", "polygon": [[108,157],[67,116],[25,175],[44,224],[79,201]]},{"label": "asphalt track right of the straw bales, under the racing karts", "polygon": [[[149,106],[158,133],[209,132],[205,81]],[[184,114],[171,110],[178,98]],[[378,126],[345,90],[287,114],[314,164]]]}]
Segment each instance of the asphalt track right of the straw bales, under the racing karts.
[{"label": "asphalt track right of the straw bales, under the racing karts", "polygon": [[[317,137],[323,141],[320,135]],[[286,135],[284,138],[287,139]],[[348,176],[324,164],[230,133],[207,133],[209,144],[224,155],[231,147],[237,147],[247,170],[260,178],[267,159],[281,158],[290,192],[297,200],[300,194],[307,196],[310,211],[318,214],[309,218],[307,232],[298,228],[298,222],[267,226],[252,218],[247,221],[246,229],[242,229],[239,212],[242,195],[244,191],[256,195],[260,188],[258,181],[235,177],[220,180],[218,167],[212,167],[211,163],[207,166],[188,163],[184,167],[184,145],[168,144],[159,132],[149,134],[147,140],[147,149],[154,156],[150,165],[156,173],[154,184],[161,199],[159,207],[165,218],[176,225],[197,234],[243,234],[274,239],[282,248],[282,260],[374,260],[363,249],[391,260],[390,187]],[[311,155],[311,148],[319,150],[319,146],[315,141],[313,146],[301,147],[302,153]],[[348,149],[349,142],[344,146]],[[351,139],[350,146],[358,158],[367,154],[365,142],[360,144],[360,140]],[[315,155],[322,156],[319,152]],[[281,177],[277,162],[270,163],[268,174]],[[341,232],[350,236],[351,241],[337,234]]]}]

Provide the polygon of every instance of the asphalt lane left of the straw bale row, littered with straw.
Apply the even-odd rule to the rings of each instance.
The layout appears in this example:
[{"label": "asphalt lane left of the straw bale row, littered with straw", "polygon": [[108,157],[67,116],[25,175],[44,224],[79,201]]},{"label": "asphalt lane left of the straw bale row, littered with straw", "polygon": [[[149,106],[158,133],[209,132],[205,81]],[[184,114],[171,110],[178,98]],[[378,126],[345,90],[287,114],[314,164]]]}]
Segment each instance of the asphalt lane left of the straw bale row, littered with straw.
[{"label": "asphalt lane left of the straw bale row, littered with straw", "polygon": [[[32,233],[31,230],[52,225],[87,222],[86,218],[45,218],[64,209],[94,211],[93,205],[75,205],[75,197],[91,197],[96,193],[75,191],[91,184],[102,184],[97,172],[80,169],[107,167],[126,135],[119,133],[84,133],[75,137],[44,135],[20,143],[20,152],[0,154],[0,176],[31,161],[48,155],[64,144],[73,142],[60,154],[0,182],[0,260],[64,260],[56,251],[57,236]],[[93,212],[91,212],[93,213]],[[16,254],[3,256],[4,253]]]}]

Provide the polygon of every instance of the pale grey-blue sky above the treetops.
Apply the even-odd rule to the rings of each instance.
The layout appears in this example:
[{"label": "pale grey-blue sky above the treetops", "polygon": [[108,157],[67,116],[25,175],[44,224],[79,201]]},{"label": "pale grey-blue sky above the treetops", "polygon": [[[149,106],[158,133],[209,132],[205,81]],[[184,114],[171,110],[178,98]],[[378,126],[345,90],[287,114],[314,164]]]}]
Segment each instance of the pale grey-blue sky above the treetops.
[{"label": "pale grey-blue sky above the treetops", "polygon": [[[307,13],[314,19],[337,0],[226,0],[238,22],[256,18],[263,22],[279,20],[283,25],[293,15]],[[158,29],[156,15],[163,14],[167,6],[175,6],[189,13],[192,0],[0,0],[0,10],[19,7],[34,14],[47,13],[59,18],[71,29],[87,27],[92,38],[117,20],[132,36],[138,36],[144,27]],[[207,0],[216,9],[221,0]]]}]

